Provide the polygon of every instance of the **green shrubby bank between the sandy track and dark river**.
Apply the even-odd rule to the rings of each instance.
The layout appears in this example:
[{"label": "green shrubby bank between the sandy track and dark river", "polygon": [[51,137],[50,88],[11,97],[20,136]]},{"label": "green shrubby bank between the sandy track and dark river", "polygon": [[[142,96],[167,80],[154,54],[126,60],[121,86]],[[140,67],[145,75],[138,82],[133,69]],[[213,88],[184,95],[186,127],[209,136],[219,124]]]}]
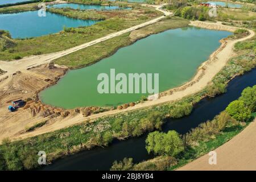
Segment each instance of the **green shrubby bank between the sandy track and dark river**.
[{"label": "green shrubby bank between the sandy track and dark river", "polygon": [[[247,44],[250,46],[246,46]],[[79,125],[16,142],[10,143],[5,139],[0,146],[2,162],[0,168],[7,170],[36,168],[39,167],[38,151],[46,151],[47,162],[52,162],[61,156],[93,146],[108,146],[114,138],[137,137],[146,131],[160,129],[165,121],[164,118],[188,115],[192,106],[201,98],[225,92],[225,85],[230,78],[255,67],[255,57],[251,56],[255,56],[253,52],[253,48],[256,48],[255,38],[240,43],[236,47],[239,56],[231,59],[228,65],[214,77],[212,84],[201,92],[177,102],[101,117],[93,122],[85,121]]]}]

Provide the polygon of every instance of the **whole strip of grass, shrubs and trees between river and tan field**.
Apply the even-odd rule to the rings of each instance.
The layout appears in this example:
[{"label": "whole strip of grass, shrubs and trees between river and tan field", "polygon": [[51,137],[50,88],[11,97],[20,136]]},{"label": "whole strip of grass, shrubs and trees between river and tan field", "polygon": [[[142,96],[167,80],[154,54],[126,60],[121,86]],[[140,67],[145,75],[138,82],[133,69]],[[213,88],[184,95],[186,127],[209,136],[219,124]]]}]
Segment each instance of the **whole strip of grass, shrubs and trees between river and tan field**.
[{"label": "whole strip of grass, shrubs and trees between river and tan field", "polygon": [[[231,102],[228,107],[212,121],[201,123],[187,134],[179,136],[176,131],[149,133],[146,139],[146,150],[158,157],[139,164],[133,159],[115,161],[112,170],[173,170],[207,154],[240,133],[255,118],[252,111],[256,106],[256,85],[246,88],[242,96]],[[246,100],[247,105],[244,101]],[[161,162],[169,158],[168,162]],[[158,161],[160,160],[160,161]],[[150,166],[147,163],[151,163]],[[159,167],[159,163],[161,164]],[[141,166],[138,168],[138,166]]]}]

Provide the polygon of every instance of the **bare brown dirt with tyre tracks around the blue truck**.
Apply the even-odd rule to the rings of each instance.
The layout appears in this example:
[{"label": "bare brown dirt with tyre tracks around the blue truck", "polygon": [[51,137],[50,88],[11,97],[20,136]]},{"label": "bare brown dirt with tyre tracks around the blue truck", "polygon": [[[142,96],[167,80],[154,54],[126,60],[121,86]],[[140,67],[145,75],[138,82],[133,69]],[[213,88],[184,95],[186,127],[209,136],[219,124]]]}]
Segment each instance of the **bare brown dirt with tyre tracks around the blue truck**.
[{"label": "bare brown dirt with tyre tracks around the blue truck", "polygon": [[[66,70],[64,68],[49,69],[47,65],[42,65],[15,73],[0,82],[0,140],[23,133],[27,126],[47,119],[42,113],[48,108],[40,101],[28,101],[26,106],[14,112],[10,112],[7,107],[11,105],[11,101],[35,97],[39,90],[55,82],[58,77],[64,75]],[[51,110],[54,111],[52,108]]]}]

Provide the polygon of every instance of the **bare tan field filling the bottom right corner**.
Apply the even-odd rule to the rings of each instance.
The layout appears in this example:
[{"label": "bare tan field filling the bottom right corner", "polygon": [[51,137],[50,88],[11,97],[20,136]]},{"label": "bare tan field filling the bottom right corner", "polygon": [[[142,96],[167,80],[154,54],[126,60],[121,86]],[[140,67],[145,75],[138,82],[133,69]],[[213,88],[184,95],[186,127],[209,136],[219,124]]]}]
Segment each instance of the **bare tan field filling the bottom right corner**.
[{"label": "bare tan field filling the bottom right corner", "polygon": [[256,170],[256,119],[240,134],[218,147],[217,164],[208,163],[209,156],[201,158],[178,170]]}]

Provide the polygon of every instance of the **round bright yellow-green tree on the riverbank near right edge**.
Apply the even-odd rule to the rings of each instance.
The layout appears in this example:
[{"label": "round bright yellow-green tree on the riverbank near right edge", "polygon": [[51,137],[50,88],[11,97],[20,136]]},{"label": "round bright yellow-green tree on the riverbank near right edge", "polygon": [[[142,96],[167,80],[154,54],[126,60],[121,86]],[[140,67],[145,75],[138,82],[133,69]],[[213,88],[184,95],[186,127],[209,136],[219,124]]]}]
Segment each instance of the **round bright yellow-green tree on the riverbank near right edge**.
[{"label": "round bright yellow-green tree on the riverbank near right edge", "polygon": [[226,111],[238,121],[247,121],[251,117],[251,111],[245,106],[244,102],[241,100],[236,100],[231,102]]}]

